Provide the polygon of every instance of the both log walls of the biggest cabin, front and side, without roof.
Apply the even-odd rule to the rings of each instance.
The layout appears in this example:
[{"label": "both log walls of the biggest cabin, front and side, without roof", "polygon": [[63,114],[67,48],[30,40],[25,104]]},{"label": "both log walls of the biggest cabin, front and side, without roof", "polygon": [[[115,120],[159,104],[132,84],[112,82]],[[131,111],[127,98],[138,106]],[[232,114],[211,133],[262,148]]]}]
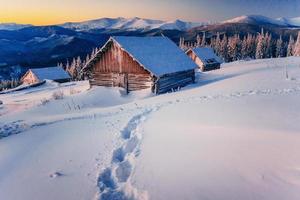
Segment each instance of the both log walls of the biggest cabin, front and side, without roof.
[{"label": "both log walls of the biggest cabin, front and side, without roof", "polygon": [[124,87],[128,92],[152,88],[152,91],[160,94],[195,81],[194,70],[167,74],[157,79],[118,44],[111,42],[108,45],[93,64],[91,85]]}]

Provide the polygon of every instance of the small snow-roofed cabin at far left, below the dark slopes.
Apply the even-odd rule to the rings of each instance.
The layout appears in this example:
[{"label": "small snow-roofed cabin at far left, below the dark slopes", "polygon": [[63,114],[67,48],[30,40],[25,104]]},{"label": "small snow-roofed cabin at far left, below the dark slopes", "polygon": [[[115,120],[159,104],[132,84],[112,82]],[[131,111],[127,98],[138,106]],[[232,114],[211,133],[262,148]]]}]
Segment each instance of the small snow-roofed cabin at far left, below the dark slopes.
[{"label": "small snow-roofed cabin at far left, below the dark slopes", "polygon": [[46,67],[29,69],[21,78],[25,84],[38,83],[44,80],[53,80],[63,83],[71,80],[70,75],[61,67]]}]

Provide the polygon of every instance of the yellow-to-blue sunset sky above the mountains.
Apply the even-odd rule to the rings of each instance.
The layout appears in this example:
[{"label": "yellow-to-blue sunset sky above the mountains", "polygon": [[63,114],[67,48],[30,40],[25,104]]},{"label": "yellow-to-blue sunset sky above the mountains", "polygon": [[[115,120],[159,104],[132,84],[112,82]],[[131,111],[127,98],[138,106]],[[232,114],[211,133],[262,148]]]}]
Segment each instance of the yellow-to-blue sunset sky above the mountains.
[{"label": "yellow-to-blue sunset sky above the mountains", "polygon": [[0,0],[0,23],[34,25],[102,17],[215,22],[249,14],[300,17],[300,0]]}]

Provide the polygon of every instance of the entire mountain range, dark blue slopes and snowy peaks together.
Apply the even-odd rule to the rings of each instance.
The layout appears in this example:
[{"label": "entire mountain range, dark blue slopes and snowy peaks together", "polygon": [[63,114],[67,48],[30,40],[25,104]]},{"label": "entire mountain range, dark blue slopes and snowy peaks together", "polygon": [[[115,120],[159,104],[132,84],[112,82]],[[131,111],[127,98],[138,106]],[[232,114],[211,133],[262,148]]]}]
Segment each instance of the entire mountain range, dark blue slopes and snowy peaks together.
[{"label": "entire mountain range, dark blue slopes and snowy peaks together", "polygon": [[300,30],[299,18],[271,19],[260,15],[241,16],[218,23],[163,21],[142,18],[102,18],[85,22],[69,22],[53,26],[0,23],[0,67],[51,66],[73,57],[85,57],[102,46],[110,36],[160,36],[164,34],[178,43],[180,37],[195,40],[197,34],[213,37],[217,33],[241,37],[256,34],[264,28],[273,38],[287,41]]}]

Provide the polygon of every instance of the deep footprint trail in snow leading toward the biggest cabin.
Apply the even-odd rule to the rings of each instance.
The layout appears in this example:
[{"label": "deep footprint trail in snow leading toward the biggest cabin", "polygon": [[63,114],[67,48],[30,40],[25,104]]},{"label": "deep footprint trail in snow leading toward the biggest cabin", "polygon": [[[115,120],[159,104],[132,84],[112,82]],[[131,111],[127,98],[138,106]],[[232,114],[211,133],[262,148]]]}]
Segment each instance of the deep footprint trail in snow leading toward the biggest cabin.
[{"label": "deep footprint trail in snow leading toward the biggest cabin", "polygon": [[111,166],[104,169],[98,178],[100,199],[147,199],[147,195],[137,191],[130,178],[135,167],[135,158],[139,155],[139,146],[142,139],[140,124],[156,109],[146,109],[141,114],[131,118],[121,131],[122,145],[115,149]]}]

